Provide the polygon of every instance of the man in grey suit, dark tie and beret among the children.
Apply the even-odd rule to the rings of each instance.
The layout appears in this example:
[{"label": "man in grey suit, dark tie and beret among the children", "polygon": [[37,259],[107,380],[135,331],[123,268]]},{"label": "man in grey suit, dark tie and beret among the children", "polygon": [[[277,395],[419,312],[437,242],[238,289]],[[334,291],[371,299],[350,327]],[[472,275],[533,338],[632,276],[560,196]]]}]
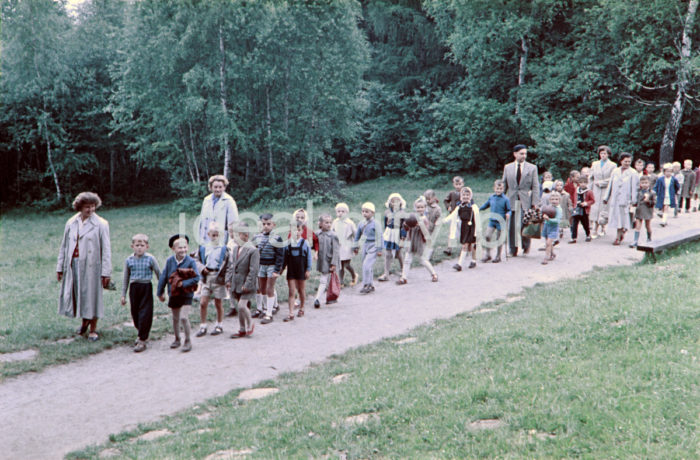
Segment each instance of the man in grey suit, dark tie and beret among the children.
[{"label": "man in grey suit, dark tie and beret among the children", "polygon": [[[515,161],[503,168],[504,193],[510,200],[514,213],[508,227],[508,246],[510,254],[518,255],[516,238],[523,212],[540,204],[540,184],[537,177],[537,166],[525,161],[527,146],[518,144],[513,147]],[[530,252],[530,238],[522,238],[523,253]]]}]

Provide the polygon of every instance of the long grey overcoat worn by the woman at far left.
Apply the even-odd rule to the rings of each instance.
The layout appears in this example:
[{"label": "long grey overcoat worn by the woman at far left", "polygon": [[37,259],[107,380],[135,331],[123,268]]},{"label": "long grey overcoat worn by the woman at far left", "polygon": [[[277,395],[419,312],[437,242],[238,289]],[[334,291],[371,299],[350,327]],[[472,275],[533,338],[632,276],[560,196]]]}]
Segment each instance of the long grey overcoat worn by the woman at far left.
[{"label": "long grey overcoat worn by the woman at far left", "polygon": [[[61,291],[58,296],[58,313],[74,318],[101,318],[104,316],[102,302],[102,277],[112,275],[112,250],[109,243],[109,223],[93,214],[85,222],[80,238],[78,237],[77,213],[66,222],[58,251],[56,272],[63,273]],[[77,270],[74,279],[71,267],[73,250],[78,242]],[[75,283],[75,285],[74,285]],[[74,289],[75,288],[75,289]],[[75,311],[73,310],[73,291],[75,290]]]}]

